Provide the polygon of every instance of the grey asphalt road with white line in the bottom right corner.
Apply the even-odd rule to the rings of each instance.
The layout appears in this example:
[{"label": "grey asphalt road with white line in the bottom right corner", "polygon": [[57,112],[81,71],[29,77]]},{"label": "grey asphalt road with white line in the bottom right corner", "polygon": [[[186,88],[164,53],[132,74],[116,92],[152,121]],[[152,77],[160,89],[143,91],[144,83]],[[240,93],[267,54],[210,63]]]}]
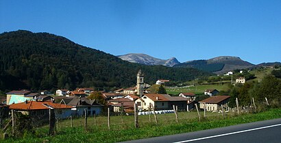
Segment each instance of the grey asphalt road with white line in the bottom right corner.
[{"label": "grey asphalt road with white line in the bottom right corner", "polygon": [[281,142],[281,118],[129,142]]}]

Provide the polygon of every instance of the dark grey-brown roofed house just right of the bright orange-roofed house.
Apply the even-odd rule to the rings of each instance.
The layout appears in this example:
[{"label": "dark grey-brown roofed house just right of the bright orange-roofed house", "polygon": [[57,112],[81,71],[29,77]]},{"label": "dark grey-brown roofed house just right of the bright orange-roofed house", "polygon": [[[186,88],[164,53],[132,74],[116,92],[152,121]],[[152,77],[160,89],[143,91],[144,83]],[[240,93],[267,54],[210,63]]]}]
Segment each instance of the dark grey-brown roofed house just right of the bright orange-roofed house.
[{"label": "dark grey-brown roofed house just right of the bright orange-roofed house", "polygon": [[85,109],[88,116],[94,114],[101,114],[103,105],[98,104],[95,100],[87,99],[86,97],[64,97],[60,104],[67,106],[73,106],[73,116],[84,116]]}]

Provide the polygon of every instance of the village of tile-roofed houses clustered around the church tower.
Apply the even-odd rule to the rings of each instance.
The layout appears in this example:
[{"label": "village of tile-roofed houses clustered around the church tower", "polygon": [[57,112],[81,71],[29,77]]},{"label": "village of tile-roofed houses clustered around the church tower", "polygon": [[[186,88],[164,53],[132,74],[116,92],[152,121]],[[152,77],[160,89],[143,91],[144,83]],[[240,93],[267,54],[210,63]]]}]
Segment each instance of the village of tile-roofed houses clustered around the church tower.
[{"label": "village of tile-roofed houses clustered around the church tower", "polygon": [[[157,80],[156,84],[163,85],[169,80]],[[239,78],[237,83],[245,83],[245,78]],[[206,111],[218,112],[229,110],[228,101],[230,96],[219,95],[217,89],[206,89],[204,95],[207,99],[195,101],[195,93],[179,93],[178,96],[168,94],[150,93],[149,84],[145,84],[145,76],[141,70],[136,75],[136,86],[127,89],[118,89],[111,93],[95,91],[94,88],[80,88],[75,91],[58,89],[56,95],[49,91],[32,93],[31,91],[10,91],[7,98],[1,102],[1,121],[9,116],[9,111],[21,112],[37,120],[49,118],[49,109],[54,109],[56,118],[64,119],[69,116],[100,115],[104,108],[110,108],[111,112],[134,113],[134,104],[137,105],[138,115],[166,114],[174,112],[173,106],[180,111],[191,111],[195,105]],[[88,96],[93,92],[101,93],[106,104],[99,103]]]}]

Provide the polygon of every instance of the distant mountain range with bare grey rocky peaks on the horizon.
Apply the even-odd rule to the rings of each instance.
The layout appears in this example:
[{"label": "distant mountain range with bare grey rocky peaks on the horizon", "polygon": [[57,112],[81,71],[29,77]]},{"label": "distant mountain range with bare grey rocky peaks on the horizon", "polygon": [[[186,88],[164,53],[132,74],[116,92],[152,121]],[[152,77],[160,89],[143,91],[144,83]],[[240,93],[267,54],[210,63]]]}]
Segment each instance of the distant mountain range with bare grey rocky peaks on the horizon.
[{"label": "distant mountain range with bare grey rocky peaks on the horizon", "polygon": [[215,74],[223,74],[225,72],[230,72],[234,69],[247,69],[257,66],[280,64],[280,62],[276,62],[276,63],[261,63],[258,65],[254,65],[247,61],[243,61],[239,57],[230,57],[230,56],[215,57],[207,60],[186,61],[184,63],[180,63],[174,57],[168,60],[163,60],[163,59],[157,59],[151,57],[147,54],[124,54],[118,57],[125,61],[130,61],[132,63],[140,63],[144,65],[165,65],[168,67],[193,67],[205,72],[213,72]]}]

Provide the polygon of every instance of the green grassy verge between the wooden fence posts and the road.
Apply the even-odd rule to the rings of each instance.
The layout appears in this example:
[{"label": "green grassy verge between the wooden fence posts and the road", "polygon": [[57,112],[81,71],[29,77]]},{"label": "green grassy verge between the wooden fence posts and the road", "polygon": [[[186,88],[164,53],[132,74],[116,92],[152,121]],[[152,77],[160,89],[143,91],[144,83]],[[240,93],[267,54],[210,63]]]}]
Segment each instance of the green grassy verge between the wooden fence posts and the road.
[{"label": "green grassy verge between the wooden fence posts and the road", "polygon": [[[173,114],[169,116],[172,115]],[[179,115],[184,116],[185,113],[180,113]],[[128,118],[132,117],[127,116],[124,118],[124,122],[126,122]],[[162,117],[159,116],[159,118]],[[164,118],[167,118],[167,116]],[[273,118],[281,118],[281,109],[271,109],[257,114],[243,114],[241,116],[229,115],[225,119],[221,118],[221,116],[208,116],[208,118],[204,118],[201,122],[198,122],[197,118],[180,118],[180,123],[160,120],[157,125],[156,123],[149,123],[148,120],[145,121],[148,119],[148,116],[140,116],[140,120],[143,120],[143,122],[140,123],[139,129],[134,129],[134,124],[132,122],[125,125],[113,124],[111,130],[106,129],[106,126],[104,127],[103,124],[106,125],[106,123],[101,123],[97,126],[89,125],[88,131],[84,131],[82,127],[83,123],[81,123],[82,120],[76,119],[73,123],[80,122],[80,126],[77,125],[71,128],[62,125],[63,128],[53,137],[47,136],[47,127],[41,127],[36,129],[35,133],[25,133],[23,138],[9,138],[8,140],[0,140],[0,142],[121,142],[264,121]],[[151,116],[151,119],[154,121],[153,116]],[[117,118],[113,118],[113,120],[117,120]],[[99,121],[102,121],[101,118]]]}]

